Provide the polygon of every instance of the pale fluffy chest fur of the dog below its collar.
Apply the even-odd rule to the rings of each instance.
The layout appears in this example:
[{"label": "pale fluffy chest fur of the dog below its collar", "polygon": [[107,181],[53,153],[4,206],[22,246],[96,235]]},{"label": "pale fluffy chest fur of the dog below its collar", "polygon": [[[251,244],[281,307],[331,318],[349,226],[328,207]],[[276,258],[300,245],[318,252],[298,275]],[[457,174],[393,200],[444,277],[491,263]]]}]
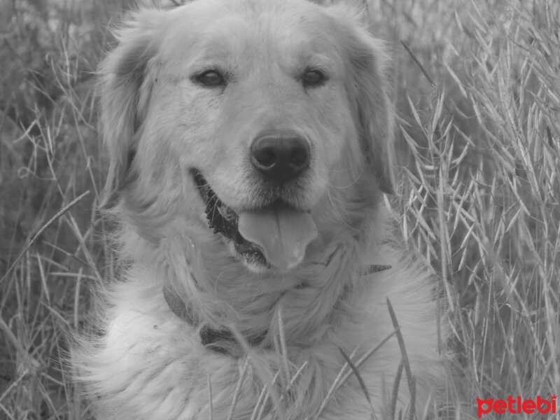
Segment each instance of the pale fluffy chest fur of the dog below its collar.
[{"label": "pale fluffy chest fur of the dog below its collar", "polygon": [[[80,354],[82,379],[90,384],[97,415],[100,419],[198,419],[209,418],[212,412],[214,419],[225,419],[232,412],[232,419],[251,419],[262,412],[260,418],[276,419],[283,412],[286,419],[304,419],[321,412],[320,419],[365,419],[372,409],[342,351],[357,364],[381,344],[358,372],[374,412],[389,418],[402,351],[387,298],[416,381],[416,409],[423,410],[437,395],[442,377],[433,284],[414,267],[402,267],[398,255],[379,256],[393,267],[360,275],[356,287],[335,302],[321,321],[308,309],[314,299],[325,299],[321,293],[328,290],[314,290],[307,297],[294,293],[280,298],[272,310],[263,307],[260,313],[268,316],[260,322],[268,323],[272,346],[249,347],[245,352],[243,344],[237,344],[235,355],[204,347],[199,330],[169,309],[161,273],[142,264],[132,267],[107,295],[106,334],[84,346]],[[323,281],[326,285],[334,279]],[[297,322],[286,325],[285,314]],[[347,379],[336,386],[344,376]],[[405,374],[400,381],[397,409],[405,412],[410,403]]]}]

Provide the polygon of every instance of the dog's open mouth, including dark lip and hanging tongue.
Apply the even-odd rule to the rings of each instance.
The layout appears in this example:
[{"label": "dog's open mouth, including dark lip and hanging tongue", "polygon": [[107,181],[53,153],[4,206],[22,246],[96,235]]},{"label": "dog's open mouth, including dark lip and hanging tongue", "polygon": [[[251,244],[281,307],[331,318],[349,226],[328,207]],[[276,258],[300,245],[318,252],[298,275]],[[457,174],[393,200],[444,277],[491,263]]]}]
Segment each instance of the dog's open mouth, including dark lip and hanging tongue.
[{"label": "dog's open mouth, including dark lip and hanging tongue", "polygon": [[200,172],[193,170],[193,179],[205,205],[209,228],[230,239],[249,265],[292,269],[300,264],[307,245],[317,235],[308,211],[274,202],[237,214],[219,199]]}]

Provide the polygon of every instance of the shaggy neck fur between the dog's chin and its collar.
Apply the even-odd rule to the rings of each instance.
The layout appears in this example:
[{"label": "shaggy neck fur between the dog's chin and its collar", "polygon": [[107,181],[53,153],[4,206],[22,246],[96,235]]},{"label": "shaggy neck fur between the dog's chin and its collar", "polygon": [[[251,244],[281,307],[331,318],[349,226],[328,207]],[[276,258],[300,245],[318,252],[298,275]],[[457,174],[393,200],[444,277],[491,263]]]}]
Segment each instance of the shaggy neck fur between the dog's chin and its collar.
[{"label": "shaggy neck fur between the dog's chin and its collar", "polygon": [[[371,221],[379,212],[362,207],[356,214],[353,229],[338,221],[344,228],[319,237],[302,265],[286,273],[249,272],[220,237],[196,240],[186,230],[173,230],[157,242],[129,232],[137,240],[121,243],[136,244],[123,254],[133,266],[155,271],[154,281],[185,302],[200,328],[237,330],[248,341],[264,337],[262,346],[273,346],[282,332],[286,343],[306,346],[328,332],[334,311],[344,311],[360,294],[367,257],[381,240],[367,228],[379,225]],[[332,227],[332,220],[325,224]]]}]

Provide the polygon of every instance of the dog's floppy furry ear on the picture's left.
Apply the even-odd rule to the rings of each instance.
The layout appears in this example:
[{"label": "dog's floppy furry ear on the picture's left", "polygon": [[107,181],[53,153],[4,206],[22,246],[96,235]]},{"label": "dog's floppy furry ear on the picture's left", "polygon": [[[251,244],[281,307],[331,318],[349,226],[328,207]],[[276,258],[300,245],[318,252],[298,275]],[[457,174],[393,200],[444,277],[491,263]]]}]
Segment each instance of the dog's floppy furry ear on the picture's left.
[{"label": "dog's floppy furry ear on the picture's left", "polygon": [[141,10],[116,32],[117,47],[102,62],[100,73],[101,125],[109,155],[102,206],[122,188],[134,158],[134,134],[141,124],[151,91],[146,81],[150,59],[158,50],[156,28],[161,10]]}]

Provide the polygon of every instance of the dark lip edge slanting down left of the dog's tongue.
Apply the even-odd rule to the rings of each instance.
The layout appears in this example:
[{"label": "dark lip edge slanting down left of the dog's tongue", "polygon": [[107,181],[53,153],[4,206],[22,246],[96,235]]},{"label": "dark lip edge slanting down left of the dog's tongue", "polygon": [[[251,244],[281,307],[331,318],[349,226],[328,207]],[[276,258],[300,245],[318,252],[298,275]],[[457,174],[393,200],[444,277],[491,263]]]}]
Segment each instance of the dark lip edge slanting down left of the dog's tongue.
[{"label": "dark lip edge slanting down left of the dog's tongue", "polygon": [[265,255],[258,245],[247,241],[237,229],[239,216],[233,209],[225,205],[212,190],[208,181],[197,169],[191,171],[195,186],[204,202],[204,213],[208,219],[208,227],[225,238],[233,241],[235,251],[242,255],[247,262],[259,263],[270,267]]}]

